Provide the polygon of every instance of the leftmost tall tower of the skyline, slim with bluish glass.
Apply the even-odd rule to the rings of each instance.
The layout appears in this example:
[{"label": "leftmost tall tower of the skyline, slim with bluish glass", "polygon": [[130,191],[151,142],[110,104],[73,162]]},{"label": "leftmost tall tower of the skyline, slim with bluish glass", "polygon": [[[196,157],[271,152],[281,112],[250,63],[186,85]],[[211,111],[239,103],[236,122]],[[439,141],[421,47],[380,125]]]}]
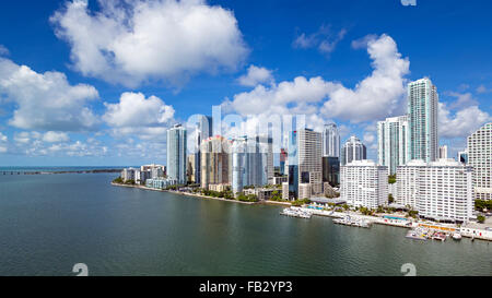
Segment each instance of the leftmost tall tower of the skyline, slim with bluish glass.
[{"label": "leftmost tall tower of the skyline, slim with bluish glass", "polygon": [[186,129],[176,124],[167,131],[167,176],[179,184],[185,184],[186,176]]}]

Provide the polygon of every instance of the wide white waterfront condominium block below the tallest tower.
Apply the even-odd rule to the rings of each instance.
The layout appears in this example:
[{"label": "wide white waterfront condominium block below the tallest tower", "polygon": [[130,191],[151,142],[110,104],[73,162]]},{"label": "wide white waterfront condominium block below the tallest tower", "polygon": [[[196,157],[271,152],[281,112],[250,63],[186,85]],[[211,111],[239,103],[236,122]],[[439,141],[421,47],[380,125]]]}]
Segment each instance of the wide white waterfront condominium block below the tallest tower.
[{"label": "wide white waterfront condominium block below the tallest tower", "polygon": [[472,168],[455,159],[411,160],[398,167],[396,203],[438,222],[468,222],[473,212]]}]

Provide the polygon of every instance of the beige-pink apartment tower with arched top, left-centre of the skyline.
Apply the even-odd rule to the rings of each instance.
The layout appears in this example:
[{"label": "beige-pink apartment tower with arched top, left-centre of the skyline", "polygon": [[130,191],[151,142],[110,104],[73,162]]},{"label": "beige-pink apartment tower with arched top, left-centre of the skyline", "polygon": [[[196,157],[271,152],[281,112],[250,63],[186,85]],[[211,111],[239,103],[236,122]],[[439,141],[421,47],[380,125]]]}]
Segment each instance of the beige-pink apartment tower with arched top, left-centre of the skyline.
[{"label": "beige-pink apartment tower with arched top, left-centre of the skyline", "polygon": [[231,142],[223,136],[209,138],[201,142],[200,153],[201,188],[208,189],[210,184],[230,183]]}]

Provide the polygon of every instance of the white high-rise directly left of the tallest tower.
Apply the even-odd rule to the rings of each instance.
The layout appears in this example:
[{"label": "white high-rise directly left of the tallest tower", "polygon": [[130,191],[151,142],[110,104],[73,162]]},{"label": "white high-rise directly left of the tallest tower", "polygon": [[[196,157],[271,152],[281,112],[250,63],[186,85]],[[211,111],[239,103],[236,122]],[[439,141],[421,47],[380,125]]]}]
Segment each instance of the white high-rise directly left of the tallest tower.
[{"label": "white high-rise directly left of the tallest tower", "polygon": [[377,122],[377,163],[387,166],[390,175],[396,174],[398,166],[407,164],[408,144],[407,116]]}]

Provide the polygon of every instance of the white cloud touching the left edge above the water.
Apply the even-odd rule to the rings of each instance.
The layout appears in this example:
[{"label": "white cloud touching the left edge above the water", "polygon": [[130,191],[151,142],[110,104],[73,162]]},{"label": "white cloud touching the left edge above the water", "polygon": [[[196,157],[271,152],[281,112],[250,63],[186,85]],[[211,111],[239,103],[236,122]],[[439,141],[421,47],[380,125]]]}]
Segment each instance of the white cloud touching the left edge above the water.
[{"label": "white cloud touching the left edge above the water", "polygon": [[37,73],[0,58],[0,94],[15,103],[9,123],[21,129],[81,131],[98,120],[87,103],[98,98],[90,85],[70,85],[60,72]]}]

